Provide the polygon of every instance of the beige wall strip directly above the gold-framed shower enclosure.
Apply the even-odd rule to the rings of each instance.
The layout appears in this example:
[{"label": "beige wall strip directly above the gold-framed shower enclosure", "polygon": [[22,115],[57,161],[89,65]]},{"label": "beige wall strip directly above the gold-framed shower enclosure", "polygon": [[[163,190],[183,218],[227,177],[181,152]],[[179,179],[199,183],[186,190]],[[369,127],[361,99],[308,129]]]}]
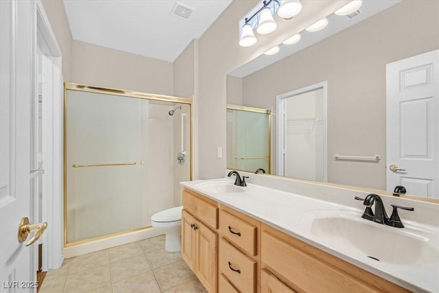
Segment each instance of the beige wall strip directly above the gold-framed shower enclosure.
[{"label": "beige wall strip directly above the gold-framed shower enclosure", "polygon": [[174,95],[171,62],[73,40],[72,82]]}]

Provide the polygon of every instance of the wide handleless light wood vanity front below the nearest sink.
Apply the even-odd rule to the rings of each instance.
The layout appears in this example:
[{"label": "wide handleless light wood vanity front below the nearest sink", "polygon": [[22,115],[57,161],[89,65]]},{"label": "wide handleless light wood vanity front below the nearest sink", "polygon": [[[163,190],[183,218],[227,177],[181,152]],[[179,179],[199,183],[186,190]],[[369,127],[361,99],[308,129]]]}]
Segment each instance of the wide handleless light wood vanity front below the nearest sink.
[{"label": "wide handleless light wood vanity front below the nearest sink", "polygon": [[271,275],[261,292],[276,292],[274,283],[289,292],[410,292],[271,226],[261,230],[261,268]]}]

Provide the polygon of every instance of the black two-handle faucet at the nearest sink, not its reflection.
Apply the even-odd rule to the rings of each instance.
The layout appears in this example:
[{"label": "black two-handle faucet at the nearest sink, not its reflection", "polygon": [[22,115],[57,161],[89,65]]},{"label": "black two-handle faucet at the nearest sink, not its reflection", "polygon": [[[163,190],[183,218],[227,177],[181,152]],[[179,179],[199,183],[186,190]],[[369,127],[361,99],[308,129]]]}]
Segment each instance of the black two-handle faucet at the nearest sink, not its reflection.
[{"label": "black two-handle faucet at the nearest sink, not its reflection", "polygon": [[[398,209],[405,209],[407,211],[414,211],[412,207],[401,207],[396,204],[391,204],[393,207],[392,215],[390,218],[385,212],[383,200],[379,197],[378,194],[369,194],[366,198],[359,198],[355,196],[356,200],[363,200],[363,204],[366,206],[363,215],[361,218],[366,220],[371,220],[373,222],[377,222],[379,224],[386,224],[388,226],[396,227],[396,228],[404,228],[403,222],[398,215]],[[375,203],[375,213],[372,212],[372,204]]]}]

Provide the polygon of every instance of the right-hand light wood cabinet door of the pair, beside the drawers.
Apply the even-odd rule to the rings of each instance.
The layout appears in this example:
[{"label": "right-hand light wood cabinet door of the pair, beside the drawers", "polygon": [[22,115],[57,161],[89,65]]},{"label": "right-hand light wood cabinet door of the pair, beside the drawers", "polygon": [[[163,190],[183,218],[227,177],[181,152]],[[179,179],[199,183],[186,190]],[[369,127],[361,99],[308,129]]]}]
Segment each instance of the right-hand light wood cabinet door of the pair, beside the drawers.
[{"label": "right-hand light wood cabinet door of the pair, beside the drawers", "polygon": [[196,222],[196,276],[204,285],[207,292],[217,292],[217,233],[211,231],[210,228]]}]

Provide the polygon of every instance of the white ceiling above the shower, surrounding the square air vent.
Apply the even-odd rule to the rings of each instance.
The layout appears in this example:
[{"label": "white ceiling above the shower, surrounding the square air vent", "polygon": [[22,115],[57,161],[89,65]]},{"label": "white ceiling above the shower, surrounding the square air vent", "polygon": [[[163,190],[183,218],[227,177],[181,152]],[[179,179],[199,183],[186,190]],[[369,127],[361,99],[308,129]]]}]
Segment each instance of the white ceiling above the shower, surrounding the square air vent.
[{"label": "white ceiling above the shower, surrounding the square air vent", "polygon": [[[174,62],[232,0],[63,0],[74,40]],[[172,15],[176,3],[189,19]]]}]

